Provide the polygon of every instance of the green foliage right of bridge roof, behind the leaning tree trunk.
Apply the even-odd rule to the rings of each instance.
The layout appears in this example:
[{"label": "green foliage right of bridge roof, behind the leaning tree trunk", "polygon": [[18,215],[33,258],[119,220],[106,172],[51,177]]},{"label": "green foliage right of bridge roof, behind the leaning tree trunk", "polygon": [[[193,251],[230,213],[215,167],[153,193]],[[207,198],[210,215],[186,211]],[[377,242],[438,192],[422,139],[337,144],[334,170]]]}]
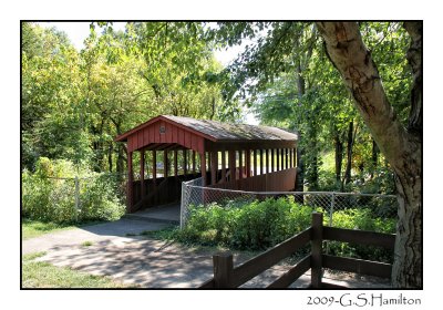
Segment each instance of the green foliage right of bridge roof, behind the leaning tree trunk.
[{"label": "green foliage right of bridge roof, behind the leaning tree trunk", "polygon": [[[360,31],[378,65],[389,102],[406,125],[412,75],[406,62],[410,38],[401,22],[361,22]],[[262,124],[300,134],[300,180],[309,190],[393,193],[391,173],[379,174],[372,136],[353,107],[342,78],[324,52],[313,23],[223,22],[213,30],[222,45],[247,42],[226,71],[224,93],[246,97]],[[347,128],[353,122],[352,140]],[[352,156],[347,159],[347,152]],[[336,152],[332,169],[321,170],[320,152]],[[378,151],[380,153],[380,151]],[[344,178],[346,164],[351,177]],[[390,167],[384,165],[383,169]]]}]

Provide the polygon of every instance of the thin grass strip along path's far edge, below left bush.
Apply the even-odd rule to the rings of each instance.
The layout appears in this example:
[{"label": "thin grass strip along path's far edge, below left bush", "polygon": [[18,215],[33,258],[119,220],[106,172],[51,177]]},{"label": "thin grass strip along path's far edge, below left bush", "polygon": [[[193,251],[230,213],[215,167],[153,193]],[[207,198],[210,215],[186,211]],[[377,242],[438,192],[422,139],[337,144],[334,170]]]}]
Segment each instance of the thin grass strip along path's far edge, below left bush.
[{"label": "thin grass strip along path's far edge, below left bush", "polygon": [[87,221],[79,225],[69,224],[56,224],[56,223],[43,223],[40,220],[33,220],[23,218],[21,224],[22,240],[40,237],[45,234],[74,229],[78,227],[84,227],[94,224],[102,224],[104,221]]}]

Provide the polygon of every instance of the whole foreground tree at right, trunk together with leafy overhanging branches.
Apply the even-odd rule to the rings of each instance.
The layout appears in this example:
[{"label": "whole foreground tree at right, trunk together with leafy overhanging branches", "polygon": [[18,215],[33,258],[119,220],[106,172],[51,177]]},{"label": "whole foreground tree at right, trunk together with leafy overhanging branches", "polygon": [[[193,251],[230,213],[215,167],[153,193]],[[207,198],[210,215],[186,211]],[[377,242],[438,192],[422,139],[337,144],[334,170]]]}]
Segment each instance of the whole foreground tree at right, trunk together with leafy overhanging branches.
[{"label": "whole foreground tree at right, trunk together with leafy overhanging branches", "polygon": [[[324,29],[326,25],[329,25],[328,31]],[[347,37],[347,31],[343,29],[349,25],[353,27],[358,35],[351,33]],[[364,46],[359,25],[365,44],[371,48],[372,53]],[[372,180],[371,175],[374,175],[374,166],[377,167],[377,164],[381,162],[378,158],[378,152],[381,151],[380,154],[388,159],[389,166],[395,172],[400,203],[393,285],[396,287],[421,287],[422,103],[421,32],[418,30],[420,27],[410,25],[408,28],[406,23],[406,31],[404,31],[401,29],[401,23],[398,22],[362,22],[359,25],[357,23],[317,23],[317,28],[322,30],[321,35],[326,39],[328,51],[332,51],[329,53],[323,52],[323,49],[320,48],[322,44],[317,44],[315,40],[316,27],[312,23],[305,22],[222,23],[215,38],[219,42],[227,42],[229,45],[238,44],[244,39],[249,39],[253,42],[255,40],[255,43],[248,44],[245,52],[228,68],[231,73],[230,85],[233,91],[230,93],[234,95],[249,93],[251,101],[254,101],[255,95],[258,94],[258,97],[260,97],[259,94],[266,90],[267,84],[280,83],[281,76],[287,74],[301,76],[302,79],[298,79],[298,82],[307,81],[305,87],[302,87],[302,83],[296,81],[289,86],[292,87],[292,91],[286,90],[279,94],[297,94],[298,90],[303,89],[306,95],[302,96],[305,100],[301,103],[305,102],[306,107],[300,110],[303,113],[310,108],[315,110],[317,104],[322,104],[321,112],[319,112],[321,116],[318,114],[317,118],[321,118],[323,126],[313,126],[312,128],[318,130],[318,133],[312,137],[318,136],[320,132],[329,131],[330,141],[336,142],[336,179],[339,179],[339,174],[341,174],[339,166],[343,159],[344,143],[348,147],[348,167],[344,174],[346,178],[342,178],[341,182],[350,178],[351,170],[363,169],[369,169],[367,178]],[[409,49],[408,60],[413,66],[413,83],[404,56],[408,49],[406,39],[410,37],[413,38],[413,43]],[[305,70],[298,70],[297,64],[302,63],[312,44],[315,44],[310,56],[312,61],[308,66],[305,66]],[[331,63],[339,70],[336,71],[332,65],[328,65],[329,61],[322,62],[321,54],[332,59]],[[379,68],[380,71],[377,70],[374,62],[382,64]],[[342,90],[346,91],[341,82],[343,78],[344,85],[351,90],[351,95],[348,94],[349,99],[357,101],[354,105],[360,112],[358,116],[352,116],[350,111],[342,108],[351,103],[342,92]],[[381,79],[383,79],[384,89]],[[410,84],[413,84],[411,91],[412,104],[408,106],[404,102],[408,101]],[[237,91],[235,91],[236,89]],[[269,93],[272,93],[272,91]],[[371,96],[368,96],[369,94]],[[311,96],[309,97],[309,95]],[[377,103],[374,103],[375,101]],[[272,99],[267,101],[267,103],[270,102],[272,102]],[[268,106],[270,107],[269,111],[277,111],[278,106],[284,107],[285,111],[296,111],[295,105],[288,104],[289,102],[296,101],[291,101],[288,96],[279,96],[279,104],[274,101]],[[363,103],[359,104],[359,102]],[[393,108],[395,108],[396,114]],[[326,113],[324,110],[330,113]],[[410,117],[406,121],[409,111],[411,111]],[[295,124],[297,114],[288,114],[284,116],[285,123],[291,122],[292,118],[292,124]],[[276,115],[279,115],[279,113],[274,113],[274,116]],[[305,118],[308,120],[308,116],[309,114]],[[324,126],[329,122],[330,125]],[[369,132],[363,126],[363,122]],[[316,122],[306,124],[312,126]],[[336,126],[337,124],[340,124],[340,126]],[[404,128],[405,125],[408,130]],[[359,132],[356,137],[357,126]],[[324,131],[324,127],[329,127],[329,130]],[[303,138],[310,137],[302,135]],[[378,147],[374,147],[372,138]],[[365,143],[367,146],[358,145],[357,147],[354,144],[358,142]],[[310,149],[308,149],[308,153],[310,154],[307,158],[309,158],[309,155],[315,155]],[[315,157],[312,158],[315,159]],[[364,158],[368,159],[364,161]],[[365,162],[371,162],[372,165],[364,165]],[[315,166],[315,161],[311,164]],[[383,167],[383,169],[385,168]],[[361,176],[364,177],[364,174]]]}]

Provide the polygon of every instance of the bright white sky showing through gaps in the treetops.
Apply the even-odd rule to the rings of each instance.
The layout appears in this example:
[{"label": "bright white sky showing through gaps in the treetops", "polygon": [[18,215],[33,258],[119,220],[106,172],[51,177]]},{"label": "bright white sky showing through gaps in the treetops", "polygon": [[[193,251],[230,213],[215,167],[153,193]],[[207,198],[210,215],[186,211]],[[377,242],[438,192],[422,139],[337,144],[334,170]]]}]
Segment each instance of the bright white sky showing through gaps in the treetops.
[{"label": "bright white sky showing through gaps in the treetops", "polygon": [[[84,48],[83,42],[90,34],[90,22],[39,22],[39,24],[45,28],[55,27],[58,30],[64,31],[78,51]],[[112,27],[114,30],[124,30],[125,24],[125,22],[113,22]],[[224,66],[226,66],[235,60],[245,45],[246,44],[241,44],[227,50],[218,50],[214,52],[214,55]],[[246,107],[244,113],[246,124],[257,125],[259,123],[254,114],[248,112]]]}]

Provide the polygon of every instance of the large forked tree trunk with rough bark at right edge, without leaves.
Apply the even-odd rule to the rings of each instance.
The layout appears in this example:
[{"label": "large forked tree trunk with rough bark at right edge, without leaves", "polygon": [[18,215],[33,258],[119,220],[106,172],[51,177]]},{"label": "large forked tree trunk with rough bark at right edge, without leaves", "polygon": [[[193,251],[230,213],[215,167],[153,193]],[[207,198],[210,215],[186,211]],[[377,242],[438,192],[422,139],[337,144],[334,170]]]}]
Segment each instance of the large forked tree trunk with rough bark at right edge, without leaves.
[{"label": "large forked tree trunk with rough bark at right edge, without leaves", "polygon": [[378,69],[356,22],[318,22],[327,53],[341,73],[364,123],[395,173],[399,223],[392,285],[422,287],[422,23],[405,25],[414,73],[408,130],[388,102]]}]

